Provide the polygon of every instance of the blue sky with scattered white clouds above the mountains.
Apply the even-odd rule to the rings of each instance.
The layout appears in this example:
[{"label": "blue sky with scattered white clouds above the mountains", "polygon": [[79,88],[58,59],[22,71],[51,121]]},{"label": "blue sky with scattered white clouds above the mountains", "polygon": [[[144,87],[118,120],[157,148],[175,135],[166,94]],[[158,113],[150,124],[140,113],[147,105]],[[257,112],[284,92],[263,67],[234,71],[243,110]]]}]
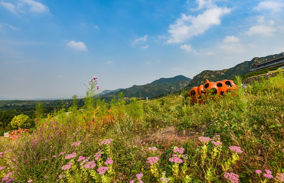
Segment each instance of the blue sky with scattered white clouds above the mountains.
[{"label": "blue sky with scattered white clouds above the mountains", "polygon": [[0,97],[85,95],[284,51],[284,1],[0,0]]}]

